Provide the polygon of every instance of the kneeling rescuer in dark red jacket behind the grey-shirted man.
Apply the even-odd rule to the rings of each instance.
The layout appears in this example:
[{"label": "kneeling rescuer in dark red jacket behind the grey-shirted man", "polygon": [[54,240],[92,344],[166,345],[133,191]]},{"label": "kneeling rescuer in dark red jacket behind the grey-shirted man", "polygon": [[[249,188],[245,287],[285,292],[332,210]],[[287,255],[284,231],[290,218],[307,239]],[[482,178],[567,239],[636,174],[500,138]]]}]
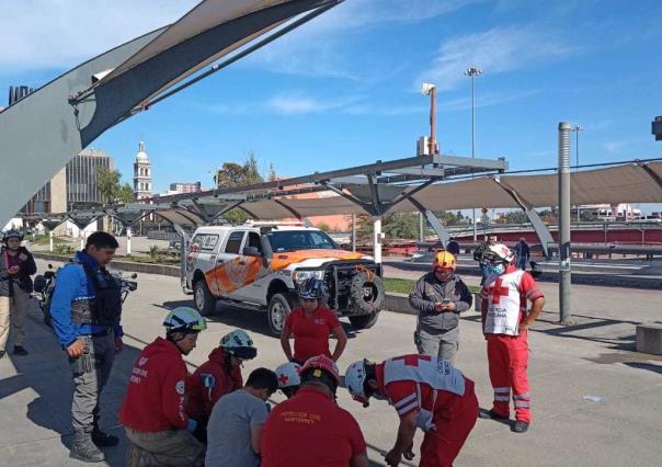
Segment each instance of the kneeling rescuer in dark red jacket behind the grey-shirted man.
[{"label": "kneeling rescuer in dark red jacket behind the grey-shirted man", "polygon": [[236,329],[220,339],[209,360],[203,363],[186,384],[186,413],[198,423],[196,437],[206,442],[205,430],[212,409],[222,396],[241,389],[241,364],[258,355],[250,335]]}]

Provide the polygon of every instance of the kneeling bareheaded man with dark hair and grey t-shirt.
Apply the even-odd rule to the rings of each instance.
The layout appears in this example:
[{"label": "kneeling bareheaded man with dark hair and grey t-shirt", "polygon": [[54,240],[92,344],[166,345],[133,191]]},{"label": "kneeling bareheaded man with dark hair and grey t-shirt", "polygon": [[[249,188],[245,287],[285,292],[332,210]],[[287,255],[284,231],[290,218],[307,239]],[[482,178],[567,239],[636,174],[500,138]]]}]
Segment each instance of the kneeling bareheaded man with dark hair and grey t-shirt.
[{"label": "kneeling bareheaded man with dark hair and grey t-shirt", "polygon": [[206,467],[258,467],[266,400],[278,389],[276,374],[254,369],[243,389],[222,396],[207,425]]}]

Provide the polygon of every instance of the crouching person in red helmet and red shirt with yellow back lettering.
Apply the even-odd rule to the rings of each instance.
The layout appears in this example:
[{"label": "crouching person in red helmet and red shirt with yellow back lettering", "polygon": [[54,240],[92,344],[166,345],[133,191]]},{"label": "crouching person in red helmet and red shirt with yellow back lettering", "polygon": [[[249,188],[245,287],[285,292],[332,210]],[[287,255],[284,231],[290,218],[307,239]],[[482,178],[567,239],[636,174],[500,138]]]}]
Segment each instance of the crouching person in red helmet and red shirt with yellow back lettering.
[{"label": "crouching person in red helmet and red shirt with yellow back lettering", "polygon": [[318,355],[306,362],[300,389],[266,419],[262,467],[368,466],[358,423],[333,401],[339,383],[331,358]]}]

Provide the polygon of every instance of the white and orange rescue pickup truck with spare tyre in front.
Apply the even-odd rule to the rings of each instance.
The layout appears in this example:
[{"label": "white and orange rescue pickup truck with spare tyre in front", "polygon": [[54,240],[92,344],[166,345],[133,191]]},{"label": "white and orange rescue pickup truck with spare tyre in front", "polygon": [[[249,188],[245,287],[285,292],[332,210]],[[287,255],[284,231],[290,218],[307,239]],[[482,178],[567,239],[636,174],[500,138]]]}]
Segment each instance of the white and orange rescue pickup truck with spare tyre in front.
[{"label": "white and orange rescue pickup truck with spare tyre in front", "polygon": [[324,300],[357,329],[377,321],[385,298],[372,257],[340,249],[322,230],[303,226],[199,227],[185,251],[184,287],[204,316],[217,300],[265,309],[279,334],[308,277],[324,281]]}]

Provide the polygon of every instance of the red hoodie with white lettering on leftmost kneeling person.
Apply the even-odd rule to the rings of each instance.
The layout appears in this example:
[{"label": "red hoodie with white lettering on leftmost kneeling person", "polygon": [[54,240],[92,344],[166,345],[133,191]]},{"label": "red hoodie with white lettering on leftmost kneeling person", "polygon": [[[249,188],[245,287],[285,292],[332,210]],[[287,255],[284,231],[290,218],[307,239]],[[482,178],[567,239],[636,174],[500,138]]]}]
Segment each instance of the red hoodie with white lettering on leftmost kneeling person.
[{"label": "red hoodie with white lettering on leftmost kneeling person", "polygon": [[140,432],[184,429],[186,364],[178,346],[162,338],[147,345],[134,364],[119,421]]}]

